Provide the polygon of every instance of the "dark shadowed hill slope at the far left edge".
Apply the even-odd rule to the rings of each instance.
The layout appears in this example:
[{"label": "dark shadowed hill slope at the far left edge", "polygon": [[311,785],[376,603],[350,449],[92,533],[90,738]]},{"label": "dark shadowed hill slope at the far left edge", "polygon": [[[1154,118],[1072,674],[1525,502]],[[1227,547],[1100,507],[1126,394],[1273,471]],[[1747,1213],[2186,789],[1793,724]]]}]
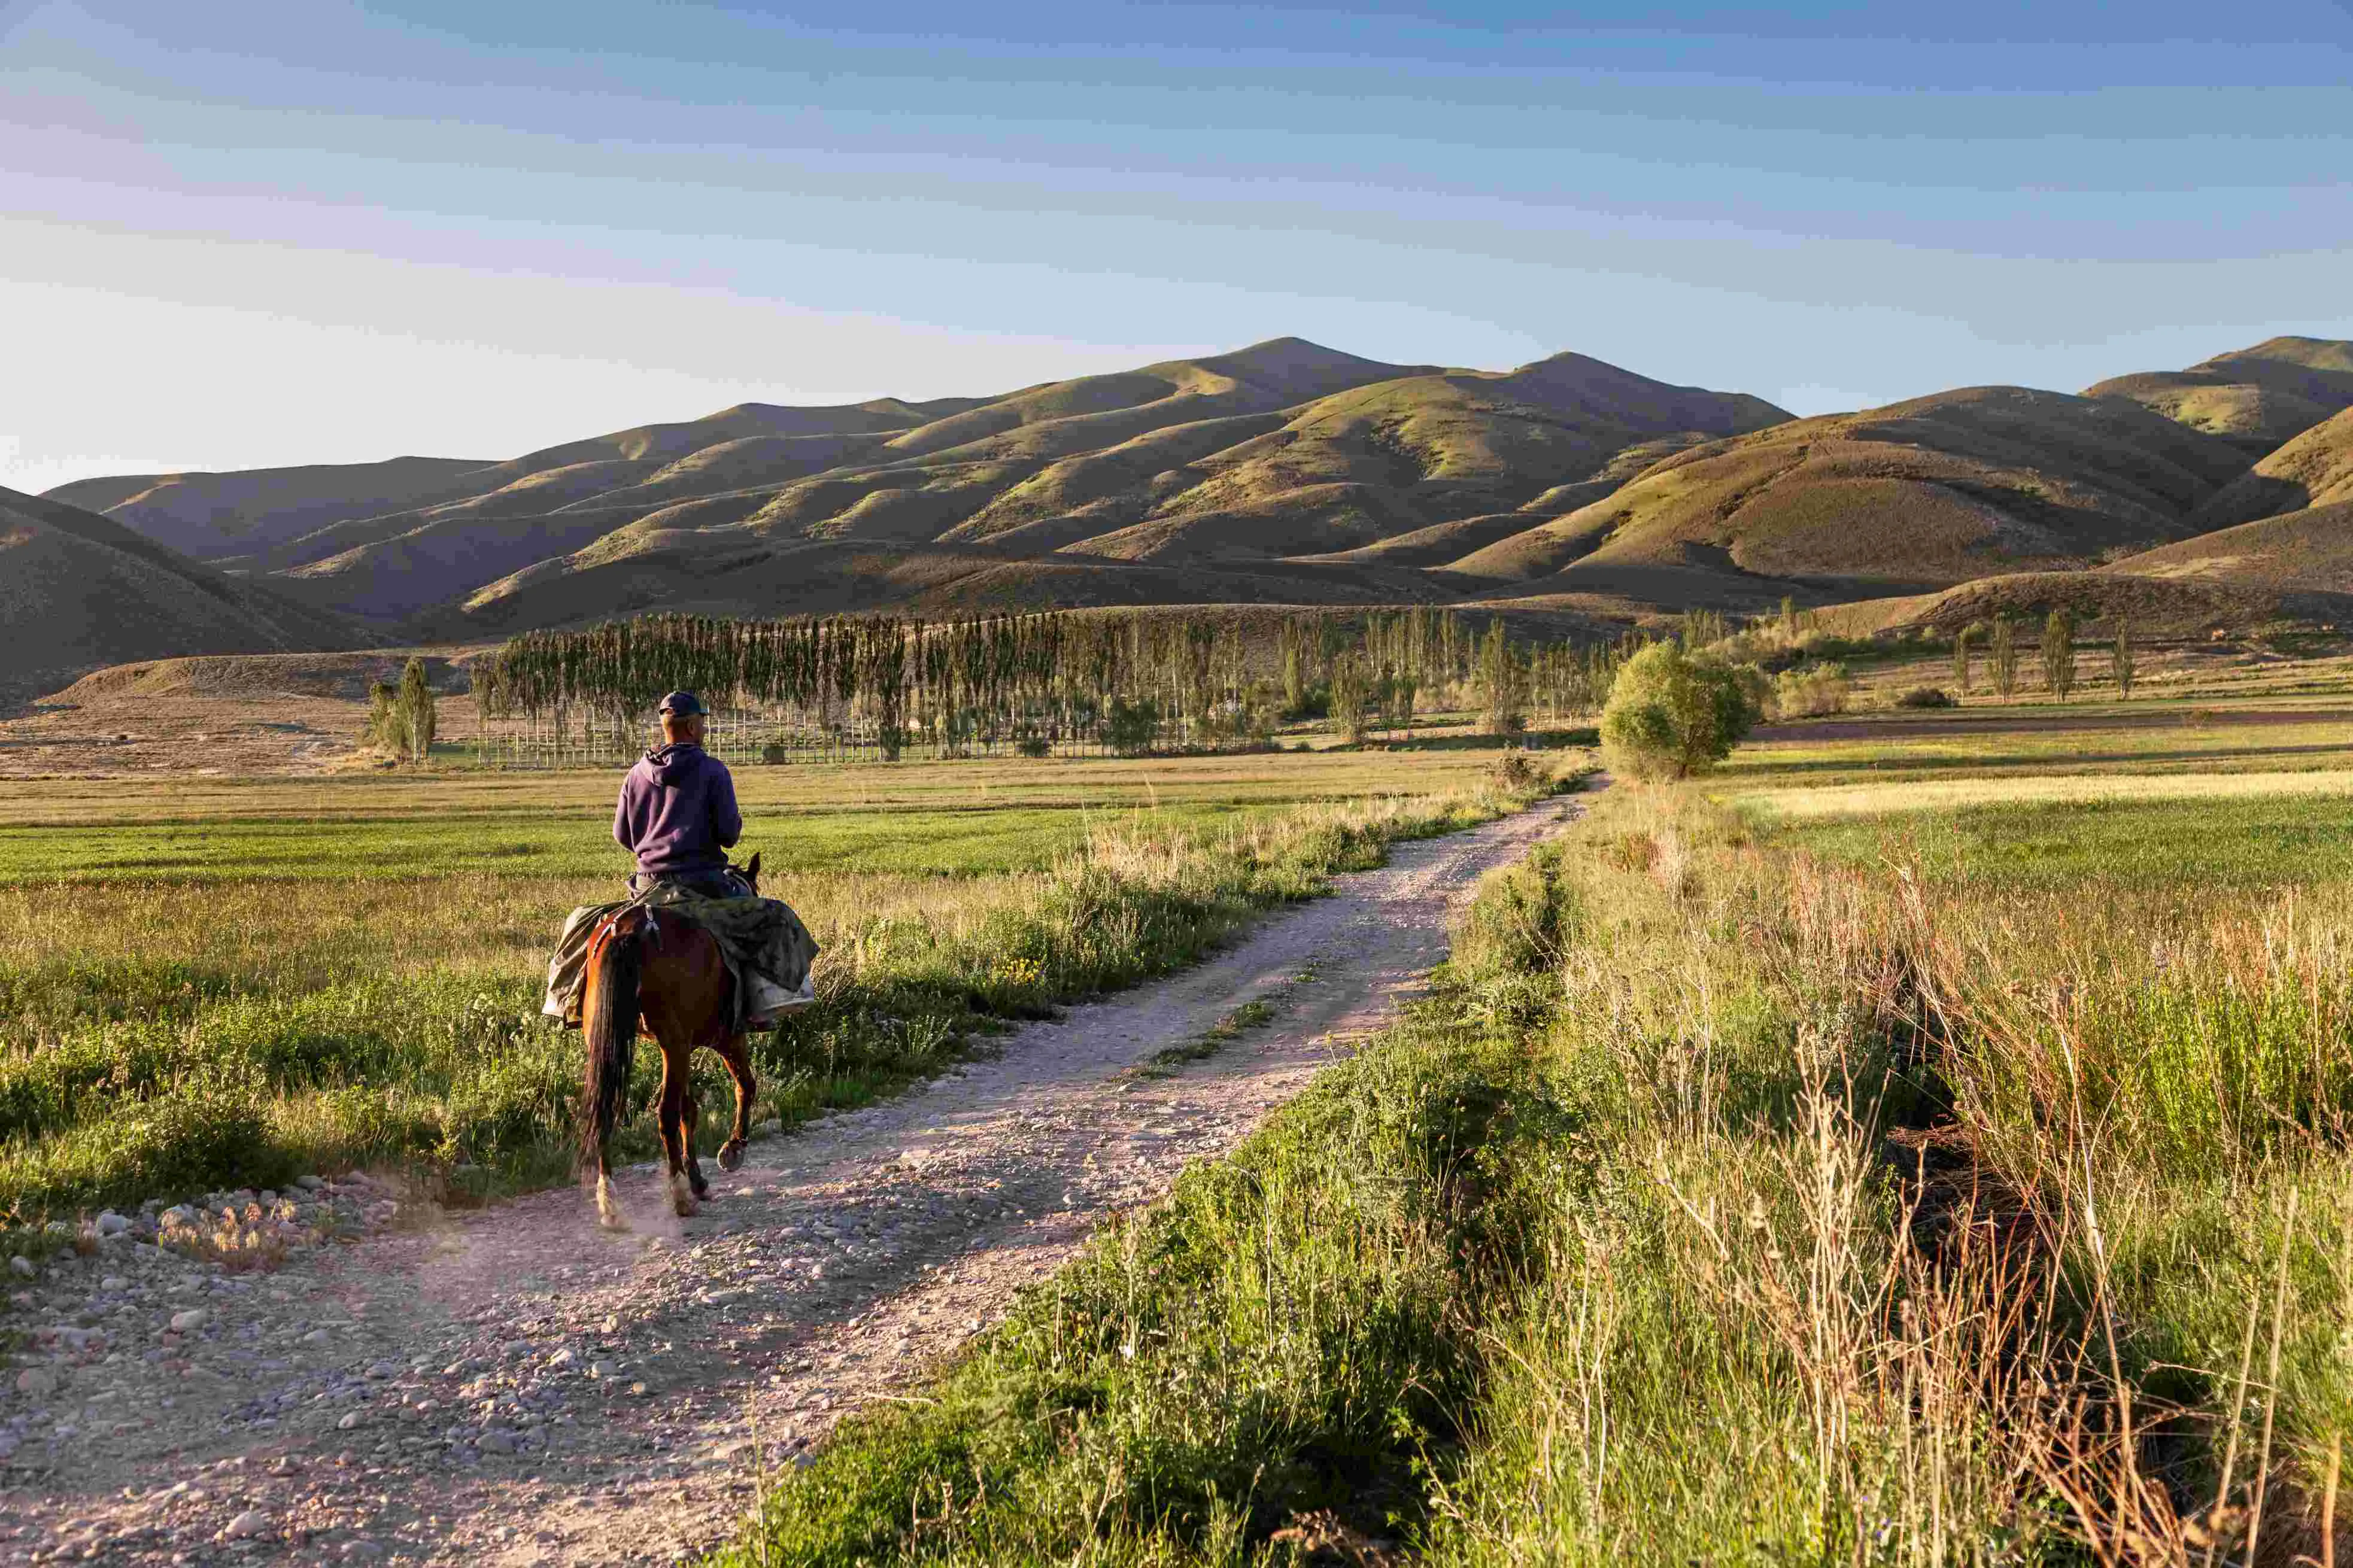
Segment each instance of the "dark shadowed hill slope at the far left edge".
[{"label": "dark shadowed hill slope at the far left edge", "polygon": [[191,652],[353,647],[351,624],[162,549],[122,523],[0,490],[0,687]]}]

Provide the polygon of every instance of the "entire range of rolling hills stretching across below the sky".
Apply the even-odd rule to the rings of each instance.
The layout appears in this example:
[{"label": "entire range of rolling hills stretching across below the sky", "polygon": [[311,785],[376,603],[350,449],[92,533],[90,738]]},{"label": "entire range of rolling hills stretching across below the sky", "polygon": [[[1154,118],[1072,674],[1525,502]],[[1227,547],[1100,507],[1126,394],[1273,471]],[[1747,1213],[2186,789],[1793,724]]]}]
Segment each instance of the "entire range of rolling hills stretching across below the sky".
[{"label": "entire range of rolling hills stretching across below the sky", "polygon": [[1275,339],[993,398],[746,403],[513,459],[0,492],[0,650],[49,673],[645,610],[1459,603],[1605,624],[2052,574],[2339,593],[2346,501],[2348,341],[1793,419],[1579,353],[1487,372]]}]

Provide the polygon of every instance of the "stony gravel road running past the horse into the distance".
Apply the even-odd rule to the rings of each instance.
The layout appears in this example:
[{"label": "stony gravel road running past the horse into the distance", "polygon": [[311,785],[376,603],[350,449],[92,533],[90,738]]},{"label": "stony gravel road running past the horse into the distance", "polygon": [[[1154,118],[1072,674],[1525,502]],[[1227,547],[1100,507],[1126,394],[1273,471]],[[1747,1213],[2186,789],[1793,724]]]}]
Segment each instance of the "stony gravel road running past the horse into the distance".
[{"label": "stony gravel road running past the horse into the distance", "polygon": [[[1226,956],[753,1144],[692,1220],[365,1175],[101,1215],[12,1257],[0,1563],[664,1563],[922,1377],[1104,1215],[1381,1026],[1560,803],[1398,845]],[[1219,1029],[1245,1003],[1266,1022]],[[1224,1038],[1228,1036],[1231,1038]]]}]

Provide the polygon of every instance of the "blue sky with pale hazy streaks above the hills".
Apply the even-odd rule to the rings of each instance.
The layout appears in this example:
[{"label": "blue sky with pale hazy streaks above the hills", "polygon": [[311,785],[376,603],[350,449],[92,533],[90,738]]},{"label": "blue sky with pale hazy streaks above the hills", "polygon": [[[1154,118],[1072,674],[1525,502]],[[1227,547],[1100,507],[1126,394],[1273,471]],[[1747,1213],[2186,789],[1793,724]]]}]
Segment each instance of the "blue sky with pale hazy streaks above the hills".
[{"label": "blue sky with pale hazy streaks above the hills", "polygon": [[0,0],[0,485],[1308,337],[1800,412],[2353,337],[2353,0]]}]

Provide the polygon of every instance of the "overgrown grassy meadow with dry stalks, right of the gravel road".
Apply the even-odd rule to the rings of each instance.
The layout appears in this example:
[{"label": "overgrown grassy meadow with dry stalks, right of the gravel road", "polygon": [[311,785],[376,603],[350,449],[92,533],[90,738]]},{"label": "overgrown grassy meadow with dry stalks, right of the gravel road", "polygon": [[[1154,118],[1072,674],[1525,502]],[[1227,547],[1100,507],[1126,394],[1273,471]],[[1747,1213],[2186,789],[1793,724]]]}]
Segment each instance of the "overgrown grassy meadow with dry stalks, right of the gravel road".
[{"label": "overgrown grassy meadow with dry stalks, right of the gravel road", "polygon": [[1598,796],[722,1559],[2334,1561],[2344,775],[2042,713]]}]

